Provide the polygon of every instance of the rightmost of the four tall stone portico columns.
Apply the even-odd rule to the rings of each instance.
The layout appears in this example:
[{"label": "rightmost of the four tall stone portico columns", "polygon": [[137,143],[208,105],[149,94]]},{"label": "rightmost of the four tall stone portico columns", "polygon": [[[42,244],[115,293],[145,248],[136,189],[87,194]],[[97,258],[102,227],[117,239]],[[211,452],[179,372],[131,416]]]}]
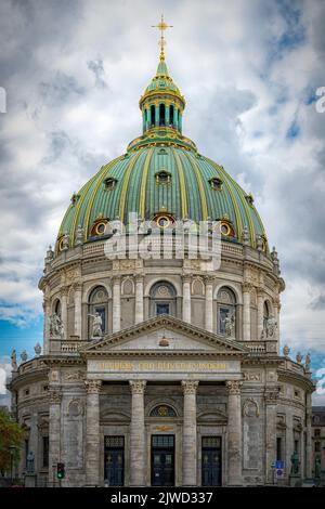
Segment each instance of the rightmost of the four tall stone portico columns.
[{"label": "rightmost of the four tall stone portico columns", "polygon": [[229,380],[227,396],[227,485],[240,486],[242,481],[242,403],[239,380]]}]

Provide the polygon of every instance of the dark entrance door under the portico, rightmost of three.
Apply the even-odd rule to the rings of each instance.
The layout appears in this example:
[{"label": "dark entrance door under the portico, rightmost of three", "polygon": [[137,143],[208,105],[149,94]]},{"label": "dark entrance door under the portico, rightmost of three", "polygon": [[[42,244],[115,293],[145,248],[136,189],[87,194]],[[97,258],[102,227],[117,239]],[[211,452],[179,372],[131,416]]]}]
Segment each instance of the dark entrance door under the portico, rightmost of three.
[{"label": "dark entrance door under the portico, rightmost of three", "polygon": [[202,439],[202,485],[221,486],[221,438]]}]

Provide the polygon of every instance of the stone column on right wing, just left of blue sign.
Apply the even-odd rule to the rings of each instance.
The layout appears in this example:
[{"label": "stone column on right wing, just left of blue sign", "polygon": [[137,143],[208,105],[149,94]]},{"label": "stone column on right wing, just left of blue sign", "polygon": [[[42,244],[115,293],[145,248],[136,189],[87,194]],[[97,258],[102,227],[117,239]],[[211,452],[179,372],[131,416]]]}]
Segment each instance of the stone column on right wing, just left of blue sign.
[{"label": "stone column on right wing, just left of blue sign", "polygon": [[276,460],[276,402],[278,389],[266,388],[265,401],[265,484],[274,483],[274,469],[272,465]]}]

